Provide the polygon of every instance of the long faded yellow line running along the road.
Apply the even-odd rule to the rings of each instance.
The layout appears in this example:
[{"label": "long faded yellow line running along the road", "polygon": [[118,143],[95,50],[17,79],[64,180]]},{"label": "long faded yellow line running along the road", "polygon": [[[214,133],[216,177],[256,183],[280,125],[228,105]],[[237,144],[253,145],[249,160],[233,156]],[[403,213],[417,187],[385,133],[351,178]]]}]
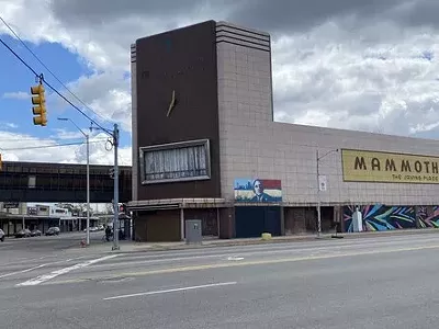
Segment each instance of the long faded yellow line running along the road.
[{"label": "long faded yellow line running along the road", "polygon": [[[281,259],[255,260],[255,261],[243,261],[243,262],[203,264],[203,265],[193,265],[193,266],[149,270],[149,271],[140,271],[140,272],[124,272],[124,273],[119,273],[119,274],[105,276],[105,279],[106,280],[114,280],[114,279],[117,279],[117,277],[126,277],[126,276],[146,276],[146,275],[153,275],[153,274],[167,274],[167,273],[190,272],[190,271],[201,271],[201,270],[212,270],[212,269],[224,269],[224,268],[234,268],[234,266],[277,264],[277,263],[286,263],[286,262],[311,261],[311,260],[342,258],[342,257],[359,257],[359,256],[370,256],[370,254],[379,254],[379,253],[393,253],[393,252],[404,252],[404,251],[416,251],[416,250],[426,250],[426,249],[439,249],[439,245],[424,246],[424,247],[410,247],[410,248],[398,248],[398,249],[387,249],[387,250],[372,250],[372,251],[361,251],[361,252],[347,252],[347,253],[333,253],[333,254],[295,257],[295,258],[281,258]],[[100,280],[100,279],[102,279],[102,276],[78,277],[78,279],[72,279],[72,280],[50,282],[50,283],[47,283],[47,284],[71,284],[71,283],[80,283],[80,282],[87,282],[87,281]]]}]

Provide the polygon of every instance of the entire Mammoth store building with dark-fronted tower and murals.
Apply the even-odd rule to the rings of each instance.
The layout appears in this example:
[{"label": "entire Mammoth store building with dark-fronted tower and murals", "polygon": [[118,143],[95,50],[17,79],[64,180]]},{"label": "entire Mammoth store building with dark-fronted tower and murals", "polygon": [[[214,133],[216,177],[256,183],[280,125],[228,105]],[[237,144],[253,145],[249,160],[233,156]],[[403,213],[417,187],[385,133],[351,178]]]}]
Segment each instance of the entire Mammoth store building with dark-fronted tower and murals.
[{"label": "entire Mammoth store building with dark-fronted tower and murals", "polygon": [[[137,240],[437,227],[439,143],[273,121],[271,39],[207,21],[132,45]],[[320,205],[320,207],[317,207]]]}]

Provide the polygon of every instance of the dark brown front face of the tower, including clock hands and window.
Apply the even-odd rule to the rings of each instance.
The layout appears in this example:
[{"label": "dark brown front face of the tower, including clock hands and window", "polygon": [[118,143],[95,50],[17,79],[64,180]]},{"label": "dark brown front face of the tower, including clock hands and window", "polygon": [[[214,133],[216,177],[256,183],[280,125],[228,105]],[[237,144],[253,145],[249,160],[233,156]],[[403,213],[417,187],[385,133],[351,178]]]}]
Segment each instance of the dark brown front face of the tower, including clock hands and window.
[{"label": "dark brown front face of the tower, including clock hands and window", "polygon": [[133,189],[138,201],[221,195],[215,29],[215,21],[206,21],[136,41]]}]

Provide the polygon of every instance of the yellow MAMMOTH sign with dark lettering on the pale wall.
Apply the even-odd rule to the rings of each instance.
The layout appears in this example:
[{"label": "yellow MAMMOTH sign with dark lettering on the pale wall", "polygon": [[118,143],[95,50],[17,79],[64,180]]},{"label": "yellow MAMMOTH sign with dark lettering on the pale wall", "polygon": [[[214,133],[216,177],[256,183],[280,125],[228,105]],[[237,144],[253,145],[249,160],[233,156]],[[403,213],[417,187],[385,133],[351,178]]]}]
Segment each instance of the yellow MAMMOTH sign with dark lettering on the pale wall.
[{"label": "yellow MAMMOTH sign with dark lettering on the pale wall", "polygon": [[439,184],[439,157],[341,150],[344,181]]}]

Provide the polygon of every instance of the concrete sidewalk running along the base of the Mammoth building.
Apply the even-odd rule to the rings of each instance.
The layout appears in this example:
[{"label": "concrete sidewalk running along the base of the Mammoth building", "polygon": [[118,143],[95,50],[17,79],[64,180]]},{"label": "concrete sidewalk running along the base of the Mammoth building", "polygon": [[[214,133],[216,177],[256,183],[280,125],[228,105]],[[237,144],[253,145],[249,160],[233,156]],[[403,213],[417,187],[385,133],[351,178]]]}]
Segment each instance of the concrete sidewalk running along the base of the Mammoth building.
[{"label": "concrete sidewalk running along the base of the Mammoth building", "polygon": [[[337,234],[338,238],[342,239],[362,239],[385,236],[406,236],[419,234],[439,234],[439,229],[425,228],[425,229],[404,229],[404,230],[386,230],[386,231],[363,231],[363,232],[345,232]],[[315,241],[335,239],[335,234],[322,234],[320,237],[316,235],[294,235],[273,237],[271,240],[262,240],[261,238],[247,238],[247,239],[204,239],[201,245],[187,245],[184,241],[178,242],[135,242],[135,241],[120,241],[120,250],[112,251],[112,242],[93,241],[89,247],[81,248],[80,239],[78,239],[78,247],[67,249],[67,252],[72,253],[102,253],[102,252],[145,252],[145,251],[165,251],[165,250],[182,250],[182,249],[203,249],[203,248],[217,248],[230,246],[248,246],[248,245],[263,245],[263,243],[285,243],[285,242],[301,242],[301,241]]]}]

